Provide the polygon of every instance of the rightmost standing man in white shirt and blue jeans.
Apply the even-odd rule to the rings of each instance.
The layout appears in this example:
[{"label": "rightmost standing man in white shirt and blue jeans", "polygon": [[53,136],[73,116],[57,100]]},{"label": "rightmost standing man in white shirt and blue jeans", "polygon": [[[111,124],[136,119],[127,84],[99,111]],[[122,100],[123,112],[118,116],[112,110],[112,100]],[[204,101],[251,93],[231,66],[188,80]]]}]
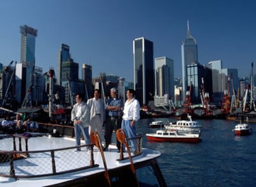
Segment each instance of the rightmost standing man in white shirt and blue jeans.
[{"label": "rightmost standing man in white shirt and blue jeans", "polygon": [[[137,137],[135,122],[140,119],[140,103],[135,99],[135,90],[128,89],[126,92],[126,103],[124,104],[124,110],[122,115],[122,129],[126,133],[127,138]],[[131,151],[136,153],[137,141],[133,139],[130,141]]]}]

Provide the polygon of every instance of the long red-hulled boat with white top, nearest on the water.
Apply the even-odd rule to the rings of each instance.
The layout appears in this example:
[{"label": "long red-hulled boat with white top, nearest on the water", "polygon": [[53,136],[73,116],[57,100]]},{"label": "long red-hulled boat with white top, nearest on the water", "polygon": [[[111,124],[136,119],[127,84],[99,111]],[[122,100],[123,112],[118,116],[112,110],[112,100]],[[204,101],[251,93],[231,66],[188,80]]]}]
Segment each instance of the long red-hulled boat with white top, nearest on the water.
[{"label": "long red-hulled boat with white top, nearest on the water", "polygon": [[150,141],[171,141],[171,142],[198,142],[200,132],[186,133],[181,130],[156,130],[156,133],[147,133]]}]

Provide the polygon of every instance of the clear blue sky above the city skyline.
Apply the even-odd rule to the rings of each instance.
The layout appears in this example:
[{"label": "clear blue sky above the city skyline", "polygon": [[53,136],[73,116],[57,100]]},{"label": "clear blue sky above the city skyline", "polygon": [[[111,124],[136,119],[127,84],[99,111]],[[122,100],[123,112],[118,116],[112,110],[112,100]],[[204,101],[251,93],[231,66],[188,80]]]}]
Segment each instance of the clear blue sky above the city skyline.
[{"label": "clear blue sky above the city skyline", "polygon": [[[1,0],[0,63],[20,61],[21,25],[38,30],[36,66],[57,70],[59,48],[70,46],[79,63],[133,81],[132,41],[145,37],[154,44],[154,58],[174,60],[181,78],[181,44],[190,33],[197,40],[198,60],[222,60],[249,76],[256,63],[256,1],[238,0]],[[255,70],[254,70],[255,71]]]}]

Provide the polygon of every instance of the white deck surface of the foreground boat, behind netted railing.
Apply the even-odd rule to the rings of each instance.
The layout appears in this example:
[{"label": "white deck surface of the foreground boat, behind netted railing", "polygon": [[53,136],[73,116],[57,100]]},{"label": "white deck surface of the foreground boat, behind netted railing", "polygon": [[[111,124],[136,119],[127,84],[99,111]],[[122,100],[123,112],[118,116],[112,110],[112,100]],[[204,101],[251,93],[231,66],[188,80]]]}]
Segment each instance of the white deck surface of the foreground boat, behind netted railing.
[{"label": "white deck surface of the foreground boat, behind netted railing", "polygon": [[[81,140],[81,145],[84,145],[84,141]],[[10,144],[11,143],[11,144]],[[16,144],[18,144],[16,142]],[[9,146],[6,146],[9,145]],[[25,143],[24,143],[25,145]],[[25,151],[22,143],[22,151]],[[69,148],[60,151],[54,151],[54,160],[56,164],[56,172],[64,172],[66,170],[74,170],[81,165],[90,165],[91,153],[82,147],[82,151],[74,152],[75,140],[74,138],[67,137],[32,137],[28,139],[28,151],[40,151],[40,153],[30,153],[27,158],[22,158],[14,161],[15,175],[28,176],[28,175],[40,175],[44,173],[51,173],[51,149]],[[19,149],[19,146],[16,146]],[[1,151],[12,151],[12,138],[0,139]],[[44,151],[41,151],[44,150]],[[104,152],[106,165],[108,169],[114,169],[129,165],[129,159],[117,161],[120,153],[117,153],[117,148],[114,145],[109,145],[109,150]],[[155,159],[161,154],[159,151],[153,151],[149,149],[143,149],[142,154],[132,157],[134,164],[136,162],[147,161]],[[128,157],[127,153],[124,153],[124,157]],[[80,177],[90,176],[95,173],[104,172],[103,159],[100,151],[96,146],[93,147],[93,159],[96,167],[81,169],[75,172],[62,173],[58,175],[50,175],[47,177],[30,177],[30,178],[12,178],[12,177],[0,177],[0,186],[48,186],[65,181],[74,180]],[[81,164],[82,163],[82,164]],[[8,175],[10,172],[10,162],[0,163],[0,173]]]}]

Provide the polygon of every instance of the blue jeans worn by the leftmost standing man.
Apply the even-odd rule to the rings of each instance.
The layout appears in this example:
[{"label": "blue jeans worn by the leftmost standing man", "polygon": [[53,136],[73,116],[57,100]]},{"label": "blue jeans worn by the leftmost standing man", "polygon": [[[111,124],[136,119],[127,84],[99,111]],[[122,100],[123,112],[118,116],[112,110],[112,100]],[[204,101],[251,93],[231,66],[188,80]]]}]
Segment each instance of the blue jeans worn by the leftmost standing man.
[{"label": "blue jeans worn by the leftmost standing man", "polygon": [[[82,124],[76,124],[74,129],[75,129],[75,146],[80,145],[81,132],[83,133],[85,144],[91,143],[88,127],[83,127]],[[89,150],[90,148],[87,147],[85,149]],[[80,150],[80,148],[78,150]]]}]

